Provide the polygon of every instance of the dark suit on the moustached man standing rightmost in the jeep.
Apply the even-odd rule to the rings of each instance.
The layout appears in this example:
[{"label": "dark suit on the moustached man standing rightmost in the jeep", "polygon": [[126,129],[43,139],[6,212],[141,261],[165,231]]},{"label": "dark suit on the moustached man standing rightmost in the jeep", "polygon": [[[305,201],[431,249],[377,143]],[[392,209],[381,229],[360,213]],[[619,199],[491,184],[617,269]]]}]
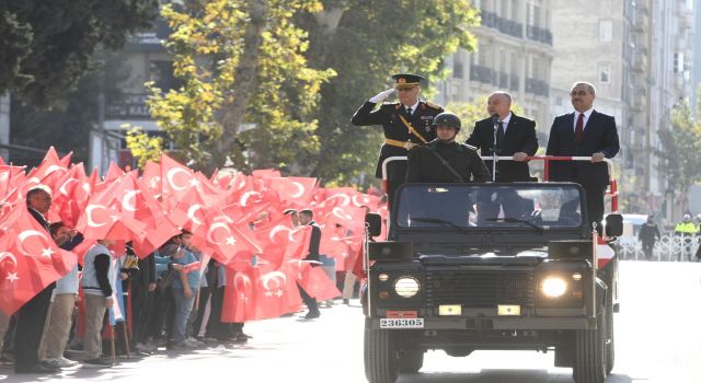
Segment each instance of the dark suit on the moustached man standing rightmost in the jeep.
[{"label": "dark suit on the moustached man standing rightmost in the jeep", "polygon": [[[574,115],[570,113],[558,116],[552,121],[545,154],[590,156],[601,152],[607,159],[611,159],[618,153],[620,143],[613,116],[593,111],[584,127],[582,140],[577,141],[574,136]],[[593,164],[583,161],[553,161],[550,163],[550,179],[581,184],[583,181],[589,181],[606,187],[609,182],[609,170],[604,162]]]}]

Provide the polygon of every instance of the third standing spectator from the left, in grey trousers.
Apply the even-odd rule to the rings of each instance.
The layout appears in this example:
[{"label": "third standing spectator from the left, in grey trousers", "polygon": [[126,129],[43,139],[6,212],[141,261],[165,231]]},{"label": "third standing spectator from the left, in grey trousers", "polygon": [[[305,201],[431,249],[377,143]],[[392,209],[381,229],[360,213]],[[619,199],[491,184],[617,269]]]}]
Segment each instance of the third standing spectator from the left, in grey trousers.
[{"label": "third standing spectator from the left, in grey trousers", "polygon": [[114,304],[116,274],[113,270],[112,253],[107,246],[114,244],[112,240],[99,240],[83,259],[83,276],[81,286],[85,295],[85,340],[84,363],[92,367],[111,367],[110,360],[102,358],[102,323],[105,309]]}]

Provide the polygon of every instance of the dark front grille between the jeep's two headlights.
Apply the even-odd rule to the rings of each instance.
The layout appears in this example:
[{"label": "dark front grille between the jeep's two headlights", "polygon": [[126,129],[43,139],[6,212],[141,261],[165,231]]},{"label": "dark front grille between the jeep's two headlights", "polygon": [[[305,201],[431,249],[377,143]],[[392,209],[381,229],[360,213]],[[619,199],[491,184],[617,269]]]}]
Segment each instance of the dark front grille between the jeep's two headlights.
[{"label": "dark front grille between the jeep's two headlights", "polygon": [[428,270],[424,290],[427,306],[497,304],[535,306],[532,270]]}]

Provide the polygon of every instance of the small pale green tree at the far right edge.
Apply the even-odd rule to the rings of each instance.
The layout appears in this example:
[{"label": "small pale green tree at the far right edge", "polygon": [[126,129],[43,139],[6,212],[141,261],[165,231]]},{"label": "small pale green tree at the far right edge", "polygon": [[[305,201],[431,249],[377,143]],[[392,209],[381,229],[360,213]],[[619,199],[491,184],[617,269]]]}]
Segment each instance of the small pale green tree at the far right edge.
[{"label": "small pale green tree at the far right edge", "polygon": [[657,135],[662,171],[667,175],[668,187],[681,198],[682,211],[687,211],[689,188],[701,179],[701,121],[694,120],[689,105],[683,103],[673,111],[671,126],[659,129]]}]

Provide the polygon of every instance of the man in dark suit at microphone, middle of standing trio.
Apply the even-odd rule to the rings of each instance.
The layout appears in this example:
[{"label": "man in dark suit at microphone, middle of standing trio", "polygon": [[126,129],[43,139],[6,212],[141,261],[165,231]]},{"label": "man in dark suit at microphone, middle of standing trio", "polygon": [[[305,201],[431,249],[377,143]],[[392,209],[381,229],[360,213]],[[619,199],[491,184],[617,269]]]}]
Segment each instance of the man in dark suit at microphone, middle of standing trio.
[{"label": "man in dark suit at microphone, middle of standing trio", "polygon": [[[512,96],[506,92],[494,92],[490,95],[486,109],[489,118],[476,121],[467,143],[480,148],[482,155],[492,155],[496,129],[496,154],[510,155],[514,161],[499,161],[496,164],[496,181],[528,182],[530,172],[526,156],[535,155],[538,150],[536,121],[517,116],[512,112]],[[495,118],[496,117],[496,118]],[[495,119],[498,124],[495,124]],[[492,161],[485,161],[492,172]]]}]

